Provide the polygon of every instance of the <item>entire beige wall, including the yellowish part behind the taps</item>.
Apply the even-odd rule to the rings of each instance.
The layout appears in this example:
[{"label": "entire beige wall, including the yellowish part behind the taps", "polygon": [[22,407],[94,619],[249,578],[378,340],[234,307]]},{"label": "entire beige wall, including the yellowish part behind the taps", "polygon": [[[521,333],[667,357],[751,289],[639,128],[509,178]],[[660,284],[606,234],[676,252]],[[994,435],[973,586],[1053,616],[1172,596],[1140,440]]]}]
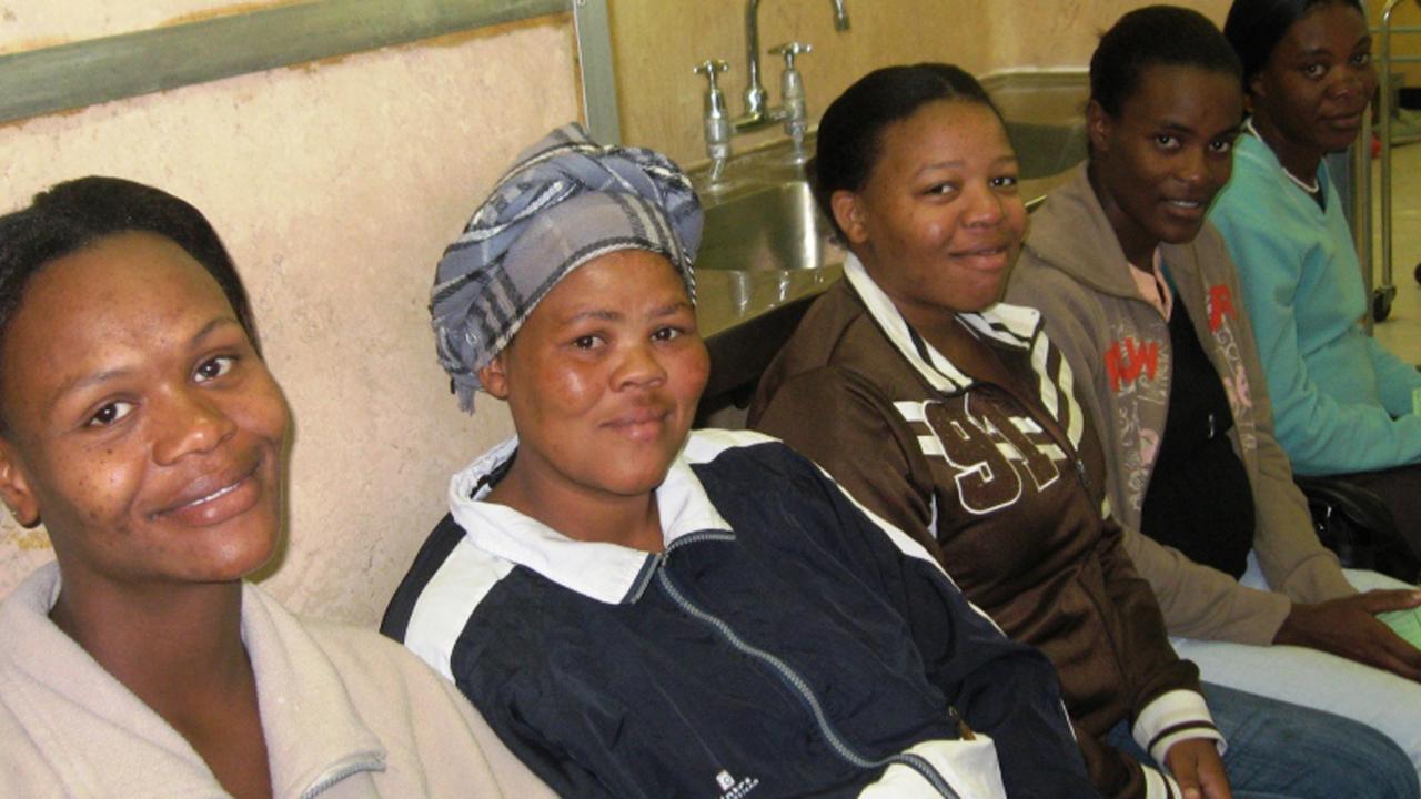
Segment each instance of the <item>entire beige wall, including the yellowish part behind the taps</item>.
[{"label": "entire beige wall, including the yellowish part behind the taps", "polygon": [[[0,53],[277,1],[0,0]],[[625,141],[702,159],[691,68],[729,61],[739,111],[743,3],[610,4]],[[1141,4],[848,0],[840,34],[828,0],[763,0],[760,43],[814,44],[801,68],[817,117],[885,64],[1083,64]],[[1189,4],[1221,20],[1228,0]],[[574,60],[568,21],[541,20],[0,127],[0,208],[65,178],[122,175],[193,200],[223,233],[296,412],[291,543],[267,584],[298,610],[374,621],[442,513],[449,472],[509,432],[496,404],[469,419],[443,390],[425,294],[499,171],[578,114]],[[50,557],[43,532],[0,522],[0,593]]]}]

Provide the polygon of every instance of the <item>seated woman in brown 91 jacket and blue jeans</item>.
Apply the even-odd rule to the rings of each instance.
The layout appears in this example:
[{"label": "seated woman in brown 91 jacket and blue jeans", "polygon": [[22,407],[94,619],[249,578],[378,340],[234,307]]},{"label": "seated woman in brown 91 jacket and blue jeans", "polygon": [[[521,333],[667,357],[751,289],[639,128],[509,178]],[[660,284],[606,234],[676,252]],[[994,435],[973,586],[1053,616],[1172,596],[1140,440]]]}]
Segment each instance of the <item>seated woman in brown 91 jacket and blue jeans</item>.
[{"label": "seated woman in brown 91 jacket and blue jeans", "polygon": [[[1036,311],[995,304],[1026,210],[982,87],[942,64],[878,70],[824,112],[817,146],[816,198],[848,245],[845,279],[766,371],[752,422],[935,550],[968,599],[1052,658],[1106,795],[1228,796],[1225,766],[1241,793],[1414,790],[1374,731],[1201,695],[1169,648],[1101,515],[1104,459],[1070,367]],[[1377,782],[1353,785],[1357,768]]]}]

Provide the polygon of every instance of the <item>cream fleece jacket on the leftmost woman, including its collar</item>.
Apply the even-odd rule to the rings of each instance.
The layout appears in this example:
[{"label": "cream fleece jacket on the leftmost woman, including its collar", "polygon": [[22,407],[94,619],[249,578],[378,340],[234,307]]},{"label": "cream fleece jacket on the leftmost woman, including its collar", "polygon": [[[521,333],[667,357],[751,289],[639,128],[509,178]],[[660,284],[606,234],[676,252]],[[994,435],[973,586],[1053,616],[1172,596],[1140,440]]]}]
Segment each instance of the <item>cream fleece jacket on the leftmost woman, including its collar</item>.
[{"label": "cream fleece jacket on the leftmost woman, including its collar", "polygon": [[[58,591],[50,563],[0,604],[0,796],[227,796],[178,731],[50,621]],[[274,796],[553,796],[394,641],[300,621],[250,584],[242,636]]]}]

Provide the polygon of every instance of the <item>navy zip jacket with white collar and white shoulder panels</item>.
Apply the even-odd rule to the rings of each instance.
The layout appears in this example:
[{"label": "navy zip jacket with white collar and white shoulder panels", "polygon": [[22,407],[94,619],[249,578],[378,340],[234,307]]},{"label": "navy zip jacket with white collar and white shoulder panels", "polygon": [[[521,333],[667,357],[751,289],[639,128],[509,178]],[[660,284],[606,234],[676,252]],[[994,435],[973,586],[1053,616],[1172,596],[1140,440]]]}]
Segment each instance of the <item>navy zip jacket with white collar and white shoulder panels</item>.
[{"label": "navy zip jacket with white collar and white shoulder panels", "polygon": [[783,444],[692,434],[661,554],[480,502],[516,446],[455,475],[382,631],[558,793],[1097,795],[1049,661]]}]

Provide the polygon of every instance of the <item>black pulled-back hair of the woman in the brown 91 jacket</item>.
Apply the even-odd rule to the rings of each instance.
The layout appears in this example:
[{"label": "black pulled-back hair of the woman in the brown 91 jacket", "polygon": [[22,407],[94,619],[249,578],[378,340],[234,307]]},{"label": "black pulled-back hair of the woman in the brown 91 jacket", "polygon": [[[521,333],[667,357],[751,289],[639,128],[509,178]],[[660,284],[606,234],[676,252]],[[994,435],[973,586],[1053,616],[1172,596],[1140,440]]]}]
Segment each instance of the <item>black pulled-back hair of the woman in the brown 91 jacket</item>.
[{"label": "black pulled-back hair of the woman in the brown 91 jacket", "polygon": [[830,202],[834,192],[864,188],[882,149],[882,131],[938,100],[965,100],[1000,111],[969,73],[951,64],[912,64],[874,70],[844,90],[818,122],[818,142],[810,163],[814,202],[840,239],[844,232]]}]

